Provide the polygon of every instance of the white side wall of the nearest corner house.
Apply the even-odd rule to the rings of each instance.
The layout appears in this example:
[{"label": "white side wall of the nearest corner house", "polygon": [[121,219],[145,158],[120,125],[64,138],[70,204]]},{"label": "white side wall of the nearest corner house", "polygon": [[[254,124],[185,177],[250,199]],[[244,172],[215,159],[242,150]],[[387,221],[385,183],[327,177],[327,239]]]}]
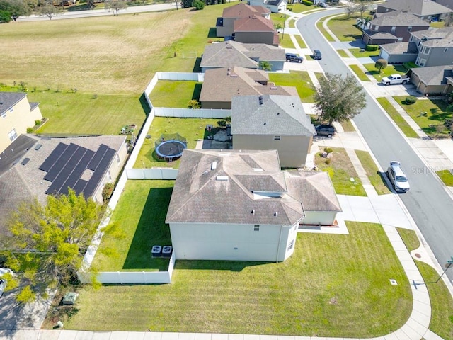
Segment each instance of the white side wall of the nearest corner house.
[{"label": "white side wall of the nearest corner house", "polygon": [[295,227],[278,225],[255,231],[254,225],[170,223],[170,232],[177,260],[280,262],[291,256],[297,237]]}]

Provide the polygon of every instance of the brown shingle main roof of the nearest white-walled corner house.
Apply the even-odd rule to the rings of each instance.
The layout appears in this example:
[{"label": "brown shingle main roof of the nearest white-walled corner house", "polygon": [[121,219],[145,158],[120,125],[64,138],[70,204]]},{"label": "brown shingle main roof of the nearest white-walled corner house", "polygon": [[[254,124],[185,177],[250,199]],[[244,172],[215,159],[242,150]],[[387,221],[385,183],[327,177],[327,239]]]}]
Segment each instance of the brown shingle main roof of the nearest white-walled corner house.
[{"label": "brown shingle main roof of the nearest white-walled corner house", "polygon": [[287,191],[276,150],[185,149],[166,223],[294,225],[304,216]]}]

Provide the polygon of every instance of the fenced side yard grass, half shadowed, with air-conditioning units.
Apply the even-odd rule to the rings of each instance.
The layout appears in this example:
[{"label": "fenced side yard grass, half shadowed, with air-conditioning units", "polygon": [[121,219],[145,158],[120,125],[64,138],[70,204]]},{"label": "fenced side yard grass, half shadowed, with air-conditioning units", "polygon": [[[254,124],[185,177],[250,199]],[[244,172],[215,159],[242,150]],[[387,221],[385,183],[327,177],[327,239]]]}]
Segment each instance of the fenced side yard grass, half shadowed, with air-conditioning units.
[{"label": "fenced side yard grass, half shadowed, with air-conditioning units", "polygon": [[[129,180],[110,222],[123,238],[105,236],[93,261],[98,271],[166,271],[168,259],[153,259],[154,244],[171,245],[165,224],[174,181]],[[115,249],[116,256],[108,256]]]}]

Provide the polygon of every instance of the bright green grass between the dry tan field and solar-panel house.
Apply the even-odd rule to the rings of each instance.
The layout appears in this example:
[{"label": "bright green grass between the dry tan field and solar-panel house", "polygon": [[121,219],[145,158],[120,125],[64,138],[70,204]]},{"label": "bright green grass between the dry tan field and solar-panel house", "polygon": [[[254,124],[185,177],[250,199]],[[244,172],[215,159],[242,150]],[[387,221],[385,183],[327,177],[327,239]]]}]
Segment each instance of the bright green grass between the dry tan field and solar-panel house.
[{"label": "bright green grass between the dry tan field and solar-panel house", "polygon": [[149,111],[139,95],[69,93],[67,91],[35,91],[29,101],[40,102],[42,115],[49,118],[38,134],[102,134],[118,135],[127,124],[142,127]]}]

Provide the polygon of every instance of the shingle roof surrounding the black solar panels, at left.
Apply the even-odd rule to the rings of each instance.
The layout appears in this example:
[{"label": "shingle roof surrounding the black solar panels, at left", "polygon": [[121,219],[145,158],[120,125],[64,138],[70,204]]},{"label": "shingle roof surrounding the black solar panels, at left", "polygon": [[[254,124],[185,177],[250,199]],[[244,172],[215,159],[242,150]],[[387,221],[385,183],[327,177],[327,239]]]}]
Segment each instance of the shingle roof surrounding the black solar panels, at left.
[{"label": "shingle roof surrounding the black solar panels, at left", "polygon": [[[45,180],[44,177],[49,173],[39,168],[60,143],[65,145],[72,143],[91,150],[94,154],[101,145],[115,150],[116,153],[124,142],[124,136],[41,138],[20,135],[0,155],[0,227],[4,225],[4,218],[8,216],[9,211],[16,208],[21,201],[36,197],[41,203],[45,203],[46,191],[57,179],[52,183]],[[69,164],[71,160],[66,164]],[[62,166],[61,170],[63,169]],[[76,169],[76,164],[73,169]],[[108,168],[102,174],[96,173],[97,169],[86,171],[82,177],[89,181],[88,178],[98,176],[96,183],[98,185],[107,170]],[[62,184],[64,183],[66,182]]]}]

